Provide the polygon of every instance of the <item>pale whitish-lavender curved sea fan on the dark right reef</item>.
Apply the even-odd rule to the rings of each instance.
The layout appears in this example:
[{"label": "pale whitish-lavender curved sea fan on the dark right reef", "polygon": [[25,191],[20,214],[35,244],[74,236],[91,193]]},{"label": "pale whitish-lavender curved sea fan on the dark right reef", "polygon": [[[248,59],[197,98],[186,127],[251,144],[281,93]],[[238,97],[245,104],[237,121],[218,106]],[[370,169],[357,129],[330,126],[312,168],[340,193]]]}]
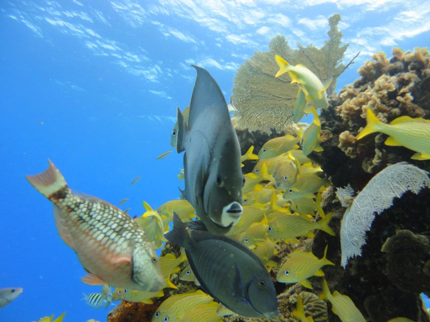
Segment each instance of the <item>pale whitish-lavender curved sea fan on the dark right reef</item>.
[{"label": "pale whitish-lavender curved sea fan on the dark right reef", "polygon": [[394,197],[400,198],[406,191],[418,194],[424,187],[430,188],[428,172],[406,162],[388,166],[373,177],[343,215],[340,227],[342,266],[346,266],[349,258],[361,255],[366,231],[370,230],[376,214],[390,208]]}]

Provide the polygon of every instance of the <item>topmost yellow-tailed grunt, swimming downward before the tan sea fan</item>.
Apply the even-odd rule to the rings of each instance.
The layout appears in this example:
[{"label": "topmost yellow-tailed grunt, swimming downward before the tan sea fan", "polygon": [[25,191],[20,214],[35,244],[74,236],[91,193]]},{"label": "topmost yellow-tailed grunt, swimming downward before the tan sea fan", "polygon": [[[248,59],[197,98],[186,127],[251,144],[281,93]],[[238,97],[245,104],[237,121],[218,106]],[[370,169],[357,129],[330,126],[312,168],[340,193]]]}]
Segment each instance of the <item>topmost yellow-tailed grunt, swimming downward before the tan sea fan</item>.
[{"label": "topmost yellow-tailed grunt, swimming downward before the tan sea fan", "polygon": [[302,64],[292,66],[279,55],[275,56],[275,60],[279,66],[279,71],[275,77],[288,72],[291,84],[296,83],[299,85],[300,89],[305,93],[306,100],[310,101],[316,107],[323,109],[329,106],[326,90],[330,86],[332,78],[327,79],[323,84],[320,78],[308,67]]}]

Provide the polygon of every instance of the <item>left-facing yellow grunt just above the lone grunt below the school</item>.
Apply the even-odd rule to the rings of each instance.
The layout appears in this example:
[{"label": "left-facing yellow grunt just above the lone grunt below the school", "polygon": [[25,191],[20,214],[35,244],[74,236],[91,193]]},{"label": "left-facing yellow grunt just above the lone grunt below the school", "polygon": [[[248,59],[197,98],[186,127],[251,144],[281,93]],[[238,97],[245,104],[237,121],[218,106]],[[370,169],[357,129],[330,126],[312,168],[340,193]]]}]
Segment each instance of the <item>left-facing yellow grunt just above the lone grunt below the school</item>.
[{"label": "left-facing yellow grunt just above the lone grunt below the school", "polygon": [[335,233],[328,225],[332,217],[332,213],[326,215],[320,221],[313,222],[305,215],[287,215],[284,213],[272,213],[268,215],[269,219],[269,237],[275,239],[286,239],[293,237],[314,237],[314,229],[321,229],[328,234],[334,236]]}]

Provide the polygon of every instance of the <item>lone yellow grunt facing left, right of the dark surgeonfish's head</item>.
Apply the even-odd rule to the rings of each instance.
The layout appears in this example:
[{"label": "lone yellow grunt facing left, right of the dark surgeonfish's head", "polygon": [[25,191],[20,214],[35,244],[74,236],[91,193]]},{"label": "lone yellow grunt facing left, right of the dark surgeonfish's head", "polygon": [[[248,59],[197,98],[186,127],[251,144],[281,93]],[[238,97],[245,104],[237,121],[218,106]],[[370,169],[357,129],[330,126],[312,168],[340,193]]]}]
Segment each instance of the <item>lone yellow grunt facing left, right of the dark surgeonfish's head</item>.
[{"label": "lone yellow grunt facing left, right of the dark surgeonfish's head", "polygon": [[304,287],[312,288],[308,278],[312,276],[324,276],[322,267],[325,265],[334,265],[327,258],[327,247],[324,250],[324,256],[319,259],[312,253],[303,251],[294,251],[290,257],[282,264],[278,271],[276,280],[281,283],[300,283]]}]

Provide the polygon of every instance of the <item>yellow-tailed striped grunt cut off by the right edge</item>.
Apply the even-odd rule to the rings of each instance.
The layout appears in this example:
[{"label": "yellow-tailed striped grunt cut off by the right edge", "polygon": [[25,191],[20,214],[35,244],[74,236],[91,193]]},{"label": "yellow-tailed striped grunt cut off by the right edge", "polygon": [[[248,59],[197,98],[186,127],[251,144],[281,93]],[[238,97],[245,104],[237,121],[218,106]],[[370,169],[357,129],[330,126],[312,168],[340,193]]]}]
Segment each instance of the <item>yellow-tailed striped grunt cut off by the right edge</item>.
[{"label": "yellow-tailed striped grunt cut off by the right edge", "polygon": [[415,151],[412,159],[430,159],[430,120],[401,116],[386,124],[378,120],[371,109],[366,111],[367,125],[358,133],[357,140],[374,132],[382,132],[389,135],[385,144]]}]

